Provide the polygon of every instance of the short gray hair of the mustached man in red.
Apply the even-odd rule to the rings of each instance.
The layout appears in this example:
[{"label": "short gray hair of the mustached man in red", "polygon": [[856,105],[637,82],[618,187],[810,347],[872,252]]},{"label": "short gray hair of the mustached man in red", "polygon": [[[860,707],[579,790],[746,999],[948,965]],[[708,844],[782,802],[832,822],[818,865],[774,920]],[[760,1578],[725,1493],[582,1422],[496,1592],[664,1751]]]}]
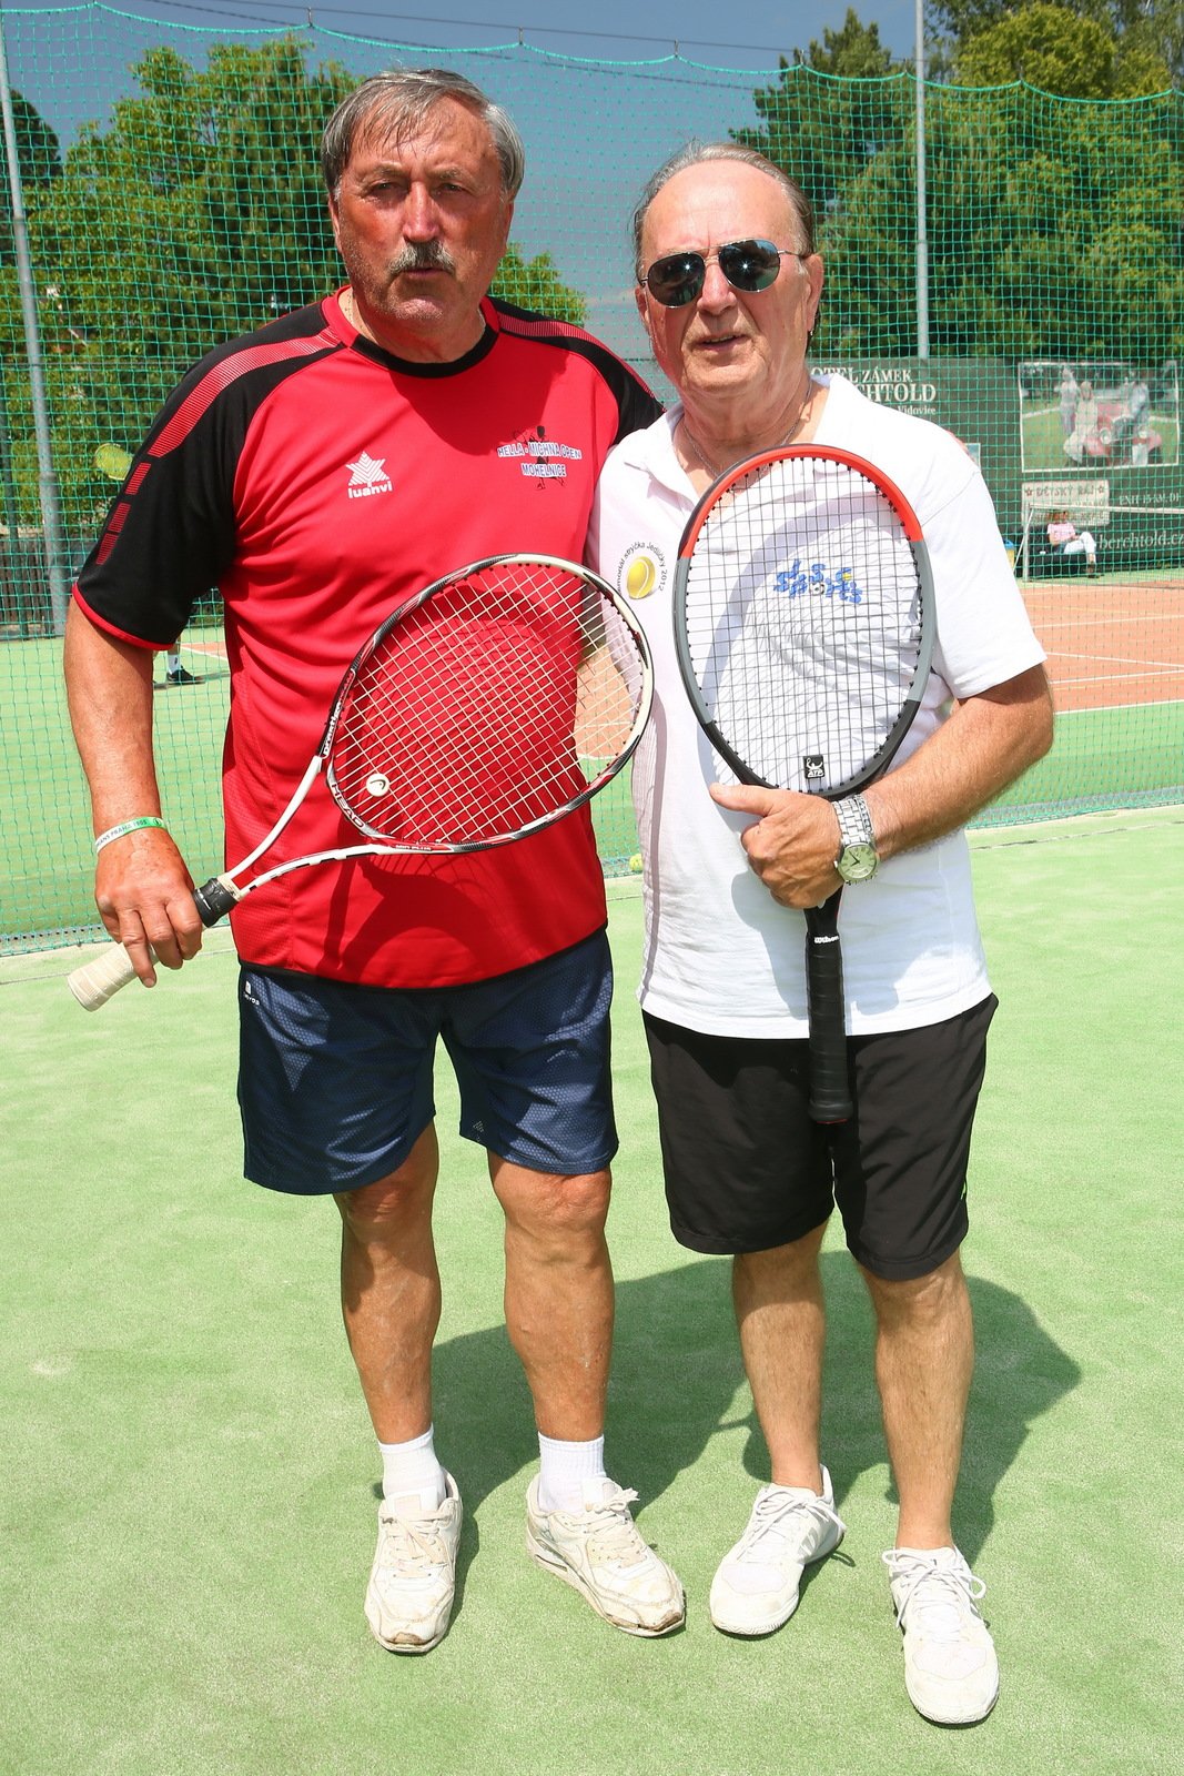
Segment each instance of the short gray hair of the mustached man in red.
[{"label": "short gray hair of the mustached man in red", "polygon": [[407,135],[422,128],[440,99],[456,99],[485,123],[502,169],[502,195],[517,197],[525,176],[525,147],[509,112],[449,67],[387,67],[341,101],[321,137],[321,172],[328,195],[337,199],[341,176],[362,131],[382,131],[396,139]]}]

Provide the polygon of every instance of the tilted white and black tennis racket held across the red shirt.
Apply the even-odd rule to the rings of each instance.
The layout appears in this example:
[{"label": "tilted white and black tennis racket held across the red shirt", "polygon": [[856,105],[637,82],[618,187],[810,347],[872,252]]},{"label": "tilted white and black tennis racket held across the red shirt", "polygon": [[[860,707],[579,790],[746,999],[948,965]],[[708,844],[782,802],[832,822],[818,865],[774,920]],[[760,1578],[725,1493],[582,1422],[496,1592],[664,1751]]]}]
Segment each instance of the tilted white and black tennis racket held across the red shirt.
[{"label": "tilted white and black tennis racket held across the red shirt", "polygon": [[[492,556],[399,604],[346,671],[321,742],[256,849],[195,890],[204,925],[291,870],[485,851],[589,801],[632,755],[653,673],[628,606],[550,556]],[[320,776],[367,844],[256,865]],[[115,945],[69,975],[98,1011],[135,979]]]}]

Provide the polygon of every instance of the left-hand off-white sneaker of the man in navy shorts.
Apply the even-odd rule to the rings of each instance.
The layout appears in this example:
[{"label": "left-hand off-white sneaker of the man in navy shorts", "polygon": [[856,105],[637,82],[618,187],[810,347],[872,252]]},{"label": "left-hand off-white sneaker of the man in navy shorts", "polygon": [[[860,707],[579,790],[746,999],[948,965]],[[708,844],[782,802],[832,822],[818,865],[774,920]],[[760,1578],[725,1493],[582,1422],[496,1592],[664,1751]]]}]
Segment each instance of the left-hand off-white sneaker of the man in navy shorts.
[{"label": "left-hand off-white sneaker of the man in navy shorts", "polygon": [[410,1494],[378,1506],[366,1620],[375,1639],[392,1653],[431,1652],[444,1639],[453,1613],[460,1492],[451,1474],[444,1479],[442,1504],[428,1506],[431,1494]]}]

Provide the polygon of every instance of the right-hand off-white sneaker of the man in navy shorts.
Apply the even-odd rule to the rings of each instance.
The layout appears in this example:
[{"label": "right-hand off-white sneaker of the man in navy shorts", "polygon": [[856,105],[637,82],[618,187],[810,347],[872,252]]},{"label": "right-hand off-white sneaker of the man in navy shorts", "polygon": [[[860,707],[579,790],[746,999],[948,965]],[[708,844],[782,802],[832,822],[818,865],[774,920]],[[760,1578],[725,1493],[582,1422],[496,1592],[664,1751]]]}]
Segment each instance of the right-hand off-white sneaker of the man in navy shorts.
[{"label": "right-hand off-white sneaker of the man in navy shorts", "polygon": [[580,1511],[543,1511],[533,1479],[525,1495],[525,1549],[614,1627],[627,1634],[669,1634],[685,1616],[682,1584],[643,1542],[628,1511],[635,1497],[611,1479],[586,1479]]}]

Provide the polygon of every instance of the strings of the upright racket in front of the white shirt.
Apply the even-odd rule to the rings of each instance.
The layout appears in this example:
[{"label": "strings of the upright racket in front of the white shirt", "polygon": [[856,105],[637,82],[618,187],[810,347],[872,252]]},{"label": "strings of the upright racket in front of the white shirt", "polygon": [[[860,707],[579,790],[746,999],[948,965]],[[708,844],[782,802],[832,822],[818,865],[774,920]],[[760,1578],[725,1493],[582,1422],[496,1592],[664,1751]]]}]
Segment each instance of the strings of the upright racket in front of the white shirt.
[{"label": "strings of the upright racket in front of the white shirt", "polygon": [[685,599],[691,664],[731,751],[783,789],[859,776],[918,673],[920,591],[895,506],[852,465],[801,456],[733,483]]}]

